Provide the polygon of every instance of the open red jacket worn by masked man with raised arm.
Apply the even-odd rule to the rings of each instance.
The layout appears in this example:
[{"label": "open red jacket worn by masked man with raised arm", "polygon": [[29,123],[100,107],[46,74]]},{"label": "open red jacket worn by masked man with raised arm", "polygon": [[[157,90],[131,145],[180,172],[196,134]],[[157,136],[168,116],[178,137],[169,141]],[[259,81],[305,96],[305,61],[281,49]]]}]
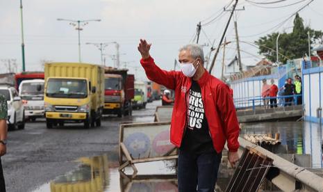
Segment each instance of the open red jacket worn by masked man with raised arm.
[{"label": "open red jacket worn by masked man with raised arm", "polygon": [[[151,57],[140,60],[140,63],[148,79],[175,90],[170,141],[176,147],[180,147],[188,118],[188,90],[192,85],[192,79],[185,77],[182,72],[161,70]],[[239,125],[229,86],[207,71],[197,83],[201,87],[204,111],[215,150],[221,152],[227,141],[229,151],[238,151]]]}]

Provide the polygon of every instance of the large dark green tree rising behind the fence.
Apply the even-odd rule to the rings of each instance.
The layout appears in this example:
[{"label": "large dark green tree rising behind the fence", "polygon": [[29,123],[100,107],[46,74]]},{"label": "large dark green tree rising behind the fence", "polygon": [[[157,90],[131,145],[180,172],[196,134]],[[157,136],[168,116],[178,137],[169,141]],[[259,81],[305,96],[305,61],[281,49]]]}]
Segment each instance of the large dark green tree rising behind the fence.
[{"label": "large dark green tree rising behind the fence", "polygon": [[[322,38],[322,31],[315,31],[304,26],[304,20],[297,13],[294,19],[292,33],[281,33],[279,36],[279,61],[285,63],[288,59],[302,58],[308,53],[308,32],[310,45]],[[263,54],[270,61],[276,61],[276,38],[279,33],[271,33],[256,40],[259,54]],[[271,47],[272,49],[268,49]]]}]

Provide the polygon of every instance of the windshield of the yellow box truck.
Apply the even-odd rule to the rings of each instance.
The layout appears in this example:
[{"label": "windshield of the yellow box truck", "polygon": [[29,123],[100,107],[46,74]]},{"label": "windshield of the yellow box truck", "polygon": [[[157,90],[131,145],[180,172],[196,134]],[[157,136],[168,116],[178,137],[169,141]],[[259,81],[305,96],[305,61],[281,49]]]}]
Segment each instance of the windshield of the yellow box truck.
[{"label": "windshield of the yellow box truck", "polygon": [[46,96],[85,98],[88,97],[88,83],[83,79],[49,79]]}]

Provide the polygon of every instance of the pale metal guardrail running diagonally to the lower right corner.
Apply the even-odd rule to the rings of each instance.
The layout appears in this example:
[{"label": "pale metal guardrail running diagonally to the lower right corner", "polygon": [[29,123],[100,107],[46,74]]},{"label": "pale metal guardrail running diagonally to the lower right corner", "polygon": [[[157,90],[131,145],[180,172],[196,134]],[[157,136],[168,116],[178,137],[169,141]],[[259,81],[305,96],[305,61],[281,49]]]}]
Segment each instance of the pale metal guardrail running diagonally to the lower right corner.
[{"label": "pale metal guardrail running diagonally to the lower right corner", "polygon": [[[238,153],[240,156],[247,147],[264,154],[273,159],[272,168],[276,168],[278,172],[272,176],[271,182],[283,191],[323,191],[323,177],[319,177],[315,173],[296,166],[293,163],[279,157],[278,155],[265,150],[263,147],[254,145],[244,138],[238,138],[240,149]],[[322,172],[323,173],[323,172]]]}]

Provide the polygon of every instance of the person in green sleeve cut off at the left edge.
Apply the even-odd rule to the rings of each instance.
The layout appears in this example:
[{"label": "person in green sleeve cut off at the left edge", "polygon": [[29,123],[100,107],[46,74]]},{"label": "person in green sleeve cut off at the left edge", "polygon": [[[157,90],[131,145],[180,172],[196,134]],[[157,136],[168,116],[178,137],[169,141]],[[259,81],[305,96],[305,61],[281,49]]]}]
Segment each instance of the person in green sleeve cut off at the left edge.
[{"label": "person in green sleeve cut off at the left edge", "polygon": [[0,192],[6,192],[1,157],[7,152],[7,116],[7,99],[3,95],[0,95]]}]

